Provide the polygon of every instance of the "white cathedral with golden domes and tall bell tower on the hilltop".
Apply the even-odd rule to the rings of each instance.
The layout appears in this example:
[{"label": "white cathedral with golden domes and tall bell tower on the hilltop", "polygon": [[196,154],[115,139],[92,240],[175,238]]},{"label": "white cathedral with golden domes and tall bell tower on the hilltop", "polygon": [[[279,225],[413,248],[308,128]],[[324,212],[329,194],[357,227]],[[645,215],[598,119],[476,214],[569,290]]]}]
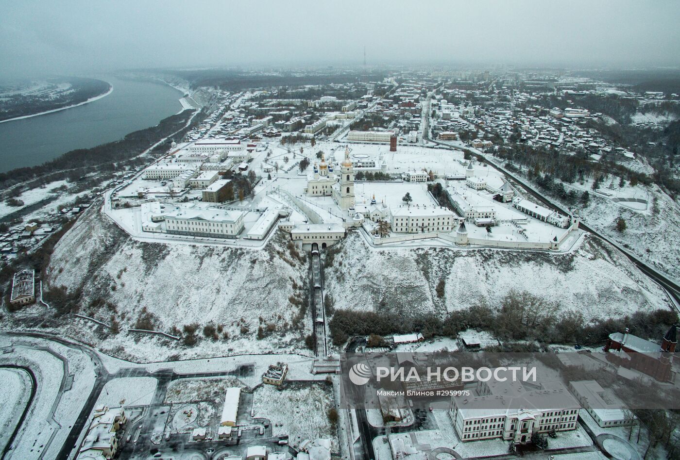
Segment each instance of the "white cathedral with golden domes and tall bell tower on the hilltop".
[{"label": "white cathedral with golden domes and tall bell tower on the hilltop", "polygon": [[307,177],[305,193],[309,196],[331,196],[343,211],[354,207],[354,166],[350,160],[350,149],[345,147],[345,159],[340,163],[340,173],[333,171],[333,164],[314,164],[314,171]]}]

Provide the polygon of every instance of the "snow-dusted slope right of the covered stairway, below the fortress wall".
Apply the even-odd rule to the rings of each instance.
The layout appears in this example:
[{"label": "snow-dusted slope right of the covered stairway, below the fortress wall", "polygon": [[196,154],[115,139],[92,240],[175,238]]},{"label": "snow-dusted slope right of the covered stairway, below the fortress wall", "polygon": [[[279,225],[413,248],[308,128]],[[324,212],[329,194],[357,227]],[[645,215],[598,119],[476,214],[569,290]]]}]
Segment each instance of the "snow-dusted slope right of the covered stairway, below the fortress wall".
[{"label": "snow-dusted slope right of the covered stairway, below the fortress wall", "polygon": [[[495,307],[511,289],[528,291],[585,318],[664,308],[666,296],[619,251],[585,237],[572,253],[494,249],[373,249],[358,234],[326,268],[335,308],[445,315],[473,304]],[[445,295],[437,297],[439,279]]]}]

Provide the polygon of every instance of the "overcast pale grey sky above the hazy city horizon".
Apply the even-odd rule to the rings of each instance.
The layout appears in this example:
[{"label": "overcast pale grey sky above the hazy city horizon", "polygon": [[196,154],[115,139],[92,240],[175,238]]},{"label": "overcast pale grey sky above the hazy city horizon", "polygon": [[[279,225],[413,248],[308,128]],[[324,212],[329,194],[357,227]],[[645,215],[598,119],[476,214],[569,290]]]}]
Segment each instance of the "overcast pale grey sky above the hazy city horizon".
[{"label": "overcast pale grey sky above the hazy city horizon", "polygon": [[0,77],[137,67],[680,64],[680,1],[0,0]]}]

